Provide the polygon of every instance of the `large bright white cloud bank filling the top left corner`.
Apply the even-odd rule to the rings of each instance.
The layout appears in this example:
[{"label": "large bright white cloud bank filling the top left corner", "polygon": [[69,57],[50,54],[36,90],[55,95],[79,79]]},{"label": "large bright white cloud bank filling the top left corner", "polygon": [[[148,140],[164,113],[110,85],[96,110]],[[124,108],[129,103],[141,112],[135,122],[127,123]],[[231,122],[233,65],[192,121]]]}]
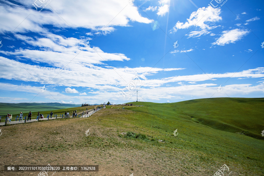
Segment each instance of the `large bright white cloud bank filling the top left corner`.
[{"label": "large bright white cloud bank filling the top left corner", "polygon": [[[45,7],[45,11],[41,12],[32,8],[33,2],[31,0],[19,1],[19,3],[24,6],[11,2],[9,4],[1,4],[0,16],[5,16],[5,18],[0,18],[0,23],[2,24],[0,33],[10,31],[14,33],[28,31],[47,33],[49,29],[43,28],[44,25],[52,25],[59,28],[87,28],[96,31],[98,27],[104,27],[108,24],[109,28],[105,29],[113,31],[111,27],[127,26],[129,21],[139,23],[152,22],[152,20],[142,17],[138,13],[136,6],[128,5],[128,1],[51,1]],[[71,9],[71,13],[69,13],[69,9]],[[118,15],[116,15],[117,12],[119,12]]]}]

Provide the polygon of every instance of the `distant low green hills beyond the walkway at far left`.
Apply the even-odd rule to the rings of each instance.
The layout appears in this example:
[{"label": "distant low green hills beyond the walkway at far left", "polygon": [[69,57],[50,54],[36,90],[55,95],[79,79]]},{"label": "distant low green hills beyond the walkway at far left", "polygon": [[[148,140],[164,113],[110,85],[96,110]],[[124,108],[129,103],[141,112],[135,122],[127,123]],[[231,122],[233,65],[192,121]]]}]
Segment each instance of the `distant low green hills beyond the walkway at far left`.
[{"label": "distant low green hills beyond the walkway at far left", "polygon": [[80,104],[62,103],[0,103],[0,115],[19,114],[19,112],[51,111],[81,106]]}]

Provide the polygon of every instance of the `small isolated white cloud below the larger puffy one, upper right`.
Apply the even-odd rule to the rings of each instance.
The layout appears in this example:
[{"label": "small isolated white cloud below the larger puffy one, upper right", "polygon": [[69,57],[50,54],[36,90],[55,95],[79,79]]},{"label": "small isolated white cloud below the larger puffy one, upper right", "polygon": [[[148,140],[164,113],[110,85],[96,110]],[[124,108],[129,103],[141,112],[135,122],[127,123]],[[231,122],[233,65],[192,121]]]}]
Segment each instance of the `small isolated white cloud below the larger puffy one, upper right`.
[{"label": "small isolated white cloud below the larger puffy one, upper right", "polygon": [[247,35],[249,31],[243,29],[233,29],[230,31],[223,31],[222,33],[223,34],[221,35],[221,37],[218,38],[216,42],[212,43],[213,45],[224,46],[229,43],[235,43],[236,41]]}]

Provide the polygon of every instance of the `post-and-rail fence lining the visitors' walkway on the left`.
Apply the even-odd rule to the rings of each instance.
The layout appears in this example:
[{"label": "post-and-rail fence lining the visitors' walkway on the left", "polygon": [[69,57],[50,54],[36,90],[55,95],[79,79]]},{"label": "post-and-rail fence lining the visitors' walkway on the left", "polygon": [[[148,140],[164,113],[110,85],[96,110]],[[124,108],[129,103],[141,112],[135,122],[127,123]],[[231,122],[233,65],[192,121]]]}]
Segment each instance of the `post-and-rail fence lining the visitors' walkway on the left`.
[{"label": "post-and-rail fence lining the visitors' walkway on the left", "polygon": [[[103,107],[101,108],[103,109]],[[5,117],[1,117],[1,123],[0,123],[0,126],[4,126],[5,124],[17,124],[17,123],[29,123],[29,122],[36,122],[36,121],[43,121],[43,120],[53,120],[53,119],[64,119],[64,118],[87,118],[87,117],[90,117],[92,114],[96,113],[97,111],[101,110],[100,108],[97,110],[94,111],[94,109],[89,109],[87,111],[82,111],[80,113],[77,112],[77,115],[76,116],[73,116],[72,115],[69,115],[68,117],[66,116],[65,117],[65,114],[53,114],[52,118],[50,118],[50,116],[48,116],[48,114],[46,116],[44,116],[43,119],[41,118],[38,118],[37,119],[37,116],[31,116],[31,121],[28,120],[28,116],[23,116],[22,118],[22,121],[19,122],[19,117],[16,119],[16,117],[12,117],[11,119],[11,122],[9,122],[7,120],[7,118]],[[27,121],[28,120],[28,121]]]}]

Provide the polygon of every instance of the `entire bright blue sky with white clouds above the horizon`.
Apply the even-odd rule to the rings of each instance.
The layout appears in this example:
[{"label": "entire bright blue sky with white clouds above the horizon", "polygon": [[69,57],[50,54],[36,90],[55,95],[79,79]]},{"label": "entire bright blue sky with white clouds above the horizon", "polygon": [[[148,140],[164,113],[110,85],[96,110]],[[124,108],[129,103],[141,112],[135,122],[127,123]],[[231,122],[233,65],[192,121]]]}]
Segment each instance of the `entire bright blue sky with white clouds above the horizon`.
[{"label": "entire bright blue sky with white clouds above the horizon", "polygon": [[0,2],[0,102],[264,97],[263,1]]}]

